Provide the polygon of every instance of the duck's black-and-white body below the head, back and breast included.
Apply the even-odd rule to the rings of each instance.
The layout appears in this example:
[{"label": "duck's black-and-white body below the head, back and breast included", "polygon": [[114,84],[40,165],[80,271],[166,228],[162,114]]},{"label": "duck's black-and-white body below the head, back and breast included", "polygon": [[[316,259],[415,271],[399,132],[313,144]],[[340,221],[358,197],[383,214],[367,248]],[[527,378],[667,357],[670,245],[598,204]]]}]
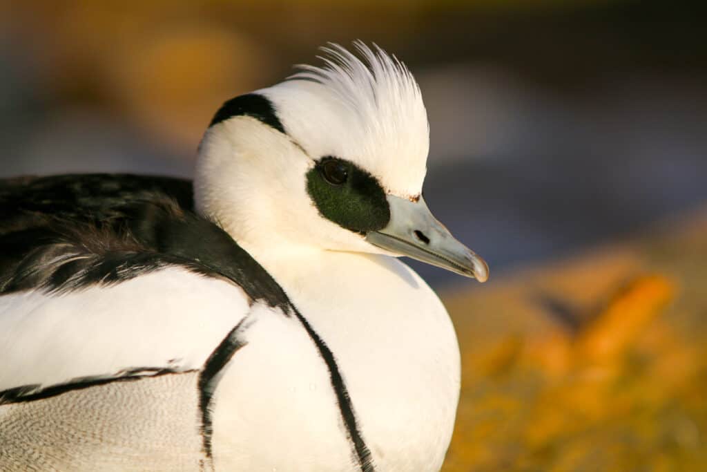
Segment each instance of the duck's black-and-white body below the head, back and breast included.
[{"label": "duck's black-and-white body below the head, back and breast included", "polygon": [[[3,470],[440,467],[459,390],[458,349],[443,306],[406,265],[380,255],[274,251],[264,257],[267,270],[253,270],[259,264],[238,243],[192,213],[181,180],[59,176],[16,180],[0,195],[2,226],[13,228],[0,239],[0,353],[13,367],[0,376]],[[104,241],[76,251],[78,231],[89,229]],[[126,238],[139,247],[110,247],[128,246]],[[106,263],[146,253],[152,262],[122,267],[123,275]],[[42,274],[23,273],[47,255],[54,262]],[[90,262],[72,268],[62,255]],[[244,290],[238,274],[260,286]],[[205,407],[204,372],[233,330],[233,352],[210,374],[218,382]],[[336,386],[312,333],[341,376]]]}]

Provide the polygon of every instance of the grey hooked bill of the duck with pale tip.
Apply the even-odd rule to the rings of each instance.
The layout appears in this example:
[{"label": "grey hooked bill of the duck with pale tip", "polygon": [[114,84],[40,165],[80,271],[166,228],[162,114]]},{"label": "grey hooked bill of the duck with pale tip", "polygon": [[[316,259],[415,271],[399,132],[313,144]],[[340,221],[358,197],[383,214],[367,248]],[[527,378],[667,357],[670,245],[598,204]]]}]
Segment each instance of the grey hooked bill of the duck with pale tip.
[{"label": "grey hooked bill of the duck with pale tip", "polygon": [[421,260],[479,282],[489,278],[489,266],[474,251],[452,236],[427,207],[422,197],[416,202],[387,196],[390,221],[385,228],[369,231],[366,241],[397,255]]}]

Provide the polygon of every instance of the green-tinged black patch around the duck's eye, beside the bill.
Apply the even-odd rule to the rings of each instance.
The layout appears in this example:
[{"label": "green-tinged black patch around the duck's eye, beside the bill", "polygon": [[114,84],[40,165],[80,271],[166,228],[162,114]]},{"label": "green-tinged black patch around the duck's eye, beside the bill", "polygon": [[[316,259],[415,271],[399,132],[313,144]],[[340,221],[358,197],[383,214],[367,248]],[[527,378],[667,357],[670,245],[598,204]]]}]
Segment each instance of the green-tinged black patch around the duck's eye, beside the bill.
[{"label": "green-tinged black patch around the duck's eye, beside the bill", "polygon": [[307,191],[320,214],[350,231],[365,234],[390,221],[378,180],[354,163],[323,157],[307,173]]}]

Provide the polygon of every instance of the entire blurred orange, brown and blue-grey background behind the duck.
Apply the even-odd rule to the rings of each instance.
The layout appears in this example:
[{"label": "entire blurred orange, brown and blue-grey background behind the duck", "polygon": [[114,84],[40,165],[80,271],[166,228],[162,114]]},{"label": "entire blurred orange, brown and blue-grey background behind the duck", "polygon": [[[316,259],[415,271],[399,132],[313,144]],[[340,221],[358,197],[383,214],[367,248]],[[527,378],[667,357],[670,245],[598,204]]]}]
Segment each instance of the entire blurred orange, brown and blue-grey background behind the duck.
[{"label": "entire blurred orange, brown and blue-grey background behind the duck", "polygon": [[425,195],[491,265],[449,471],[707,470],[707,4],[0,3],[0,176],[189,177],[218,106],[360,38],[414,72]]}]

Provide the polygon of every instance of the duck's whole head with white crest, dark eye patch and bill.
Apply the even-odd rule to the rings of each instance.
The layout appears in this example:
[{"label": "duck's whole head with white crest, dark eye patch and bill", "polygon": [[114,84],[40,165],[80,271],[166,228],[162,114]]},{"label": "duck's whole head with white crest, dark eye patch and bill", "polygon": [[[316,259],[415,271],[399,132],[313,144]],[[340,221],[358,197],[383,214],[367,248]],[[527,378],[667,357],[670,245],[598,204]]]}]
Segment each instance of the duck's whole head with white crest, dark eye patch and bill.
[{"label": "duck's whole head with white crest, dark eye patch and bill", "polygon": [[201,142],[195,199],[254,254],[409,255],[486,280],[483,260],[421,198],[427,113],[380,47],[322,48],[322,67],[228,100]]}]

